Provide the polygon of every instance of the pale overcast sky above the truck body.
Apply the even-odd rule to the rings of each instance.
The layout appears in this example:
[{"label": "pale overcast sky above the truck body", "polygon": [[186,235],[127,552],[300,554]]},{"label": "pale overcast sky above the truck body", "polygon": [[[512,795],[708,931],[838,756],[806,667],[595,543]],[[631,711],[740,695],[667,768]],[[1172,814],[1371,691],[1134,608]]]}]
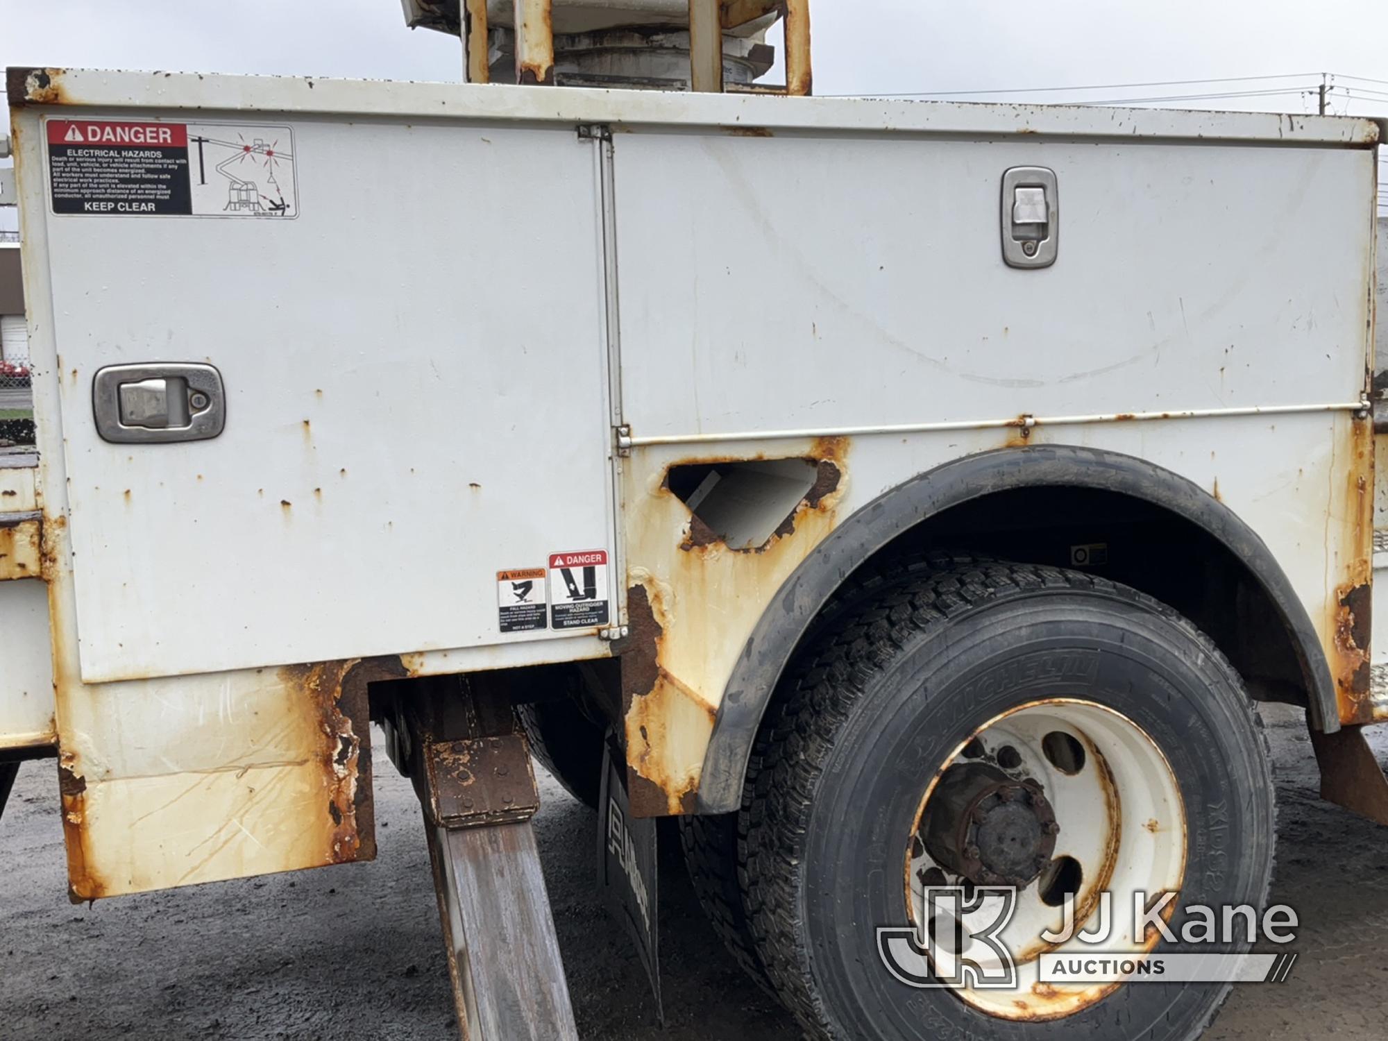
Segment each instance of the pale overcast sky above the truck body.
[{"label": "pale overcast sky above the truck body", "polygon": [[[1295,92],[1332,72],[1364,78],[1337,81],[1335,111],[1388,114],[1385,0],[812,0],[811,11],[822,94],[1292,74],[1031,96],[1109,101]],[[0,64],[455,81],[461,58],[457,39],[407,29],[398,0],[0,0]],[[1314,111],[1298,93],[1163,104]]]}]

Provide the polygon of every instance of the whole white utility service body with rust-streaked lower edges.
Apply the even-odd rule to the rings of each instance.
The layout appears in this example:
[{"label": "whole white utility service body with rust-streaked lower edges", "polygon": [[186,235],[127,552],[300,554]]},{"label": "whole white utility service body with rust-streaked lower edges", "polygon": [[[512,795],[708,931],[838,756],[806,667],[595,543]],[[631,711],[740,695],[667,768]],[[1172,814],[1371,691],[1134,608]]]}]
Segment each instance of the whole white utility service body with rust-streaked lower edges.
[{"label": "whole white utility service body with rust-streaked lower edges", "polygon": [[645,655],[633,812],[736,809],[797,583],[970,459],[1233,515],[1317,727],[1388,719],[1371,121],[81,69],[11,108],[0,613],[53,700],[7,637],[0,748],[57,747],[75,899],[369,858],[376,680]]}]

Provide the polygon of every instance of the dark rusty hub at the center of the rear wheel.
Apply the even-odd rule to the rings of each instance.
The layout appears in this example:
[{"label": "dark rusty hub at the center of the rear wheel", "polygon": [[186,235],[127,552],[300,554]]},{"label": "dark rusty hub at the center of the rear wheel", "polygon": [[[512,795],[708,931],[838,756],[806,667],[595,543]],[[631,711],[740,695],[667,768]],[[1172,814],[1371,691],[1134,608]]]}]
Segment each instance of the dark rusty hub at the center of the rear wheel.
[{"label": "dark rusty hub at the center of the rear wheel", "polygon": [[930,797],[922,838],[936,863],[980,886],[1030,884],[1060,833],[1034,780],[985,763],[945,770]]}]

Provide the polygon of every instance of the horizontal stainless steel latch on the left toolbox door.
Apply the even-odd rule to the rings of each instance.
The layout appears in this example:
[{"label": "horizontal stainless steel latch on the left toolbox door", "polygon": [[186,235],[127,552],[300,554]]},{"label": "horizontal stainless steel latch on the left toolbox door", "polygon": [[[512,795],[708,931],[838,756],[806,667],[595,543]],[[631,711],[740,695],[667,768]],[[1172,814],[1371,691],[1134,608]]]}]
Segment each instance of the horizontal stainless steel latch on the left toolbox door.
[{"label": "horizontal stainless steel latch on the left toolbox door", "polygon": [[108,365],[92,379],[92,412],[117,444],[204,441],[226,425],[222,373],[211,365]]}]

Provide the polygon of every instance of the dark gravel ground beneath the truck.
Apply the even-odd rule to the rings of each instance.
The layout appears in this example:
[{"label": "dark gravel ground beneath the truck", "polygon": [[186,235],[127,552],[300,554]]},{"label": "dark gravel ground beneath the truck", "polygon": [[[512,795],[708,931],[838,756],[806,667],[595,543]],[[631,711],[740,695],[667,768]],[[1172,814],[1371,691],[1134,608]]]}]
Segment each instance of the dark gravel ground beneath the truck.
[{"label": "dark gravel ground beneath the truck", "polygon": [[[1388,1023],[1388,829],[1321,802],[1301,716],[1264,712],[1277,761],[1278,876],[1301,915],[1289,983],[1235,990],[1210,1041],[1378,1038]],[[1374,747],[1388,763],[1388,731]],[[65,898],[51,761],[25,763],[0,824],[0,1038],[455,1041],[423,830],[384,755],[373,863],[125,897]],[[666,1024],[593,886],[595,815],[543,779],[545,879],[584,1038],[794,1041],[662,859]],[[1346,977],[1346,970],[1351,976]]]}]

